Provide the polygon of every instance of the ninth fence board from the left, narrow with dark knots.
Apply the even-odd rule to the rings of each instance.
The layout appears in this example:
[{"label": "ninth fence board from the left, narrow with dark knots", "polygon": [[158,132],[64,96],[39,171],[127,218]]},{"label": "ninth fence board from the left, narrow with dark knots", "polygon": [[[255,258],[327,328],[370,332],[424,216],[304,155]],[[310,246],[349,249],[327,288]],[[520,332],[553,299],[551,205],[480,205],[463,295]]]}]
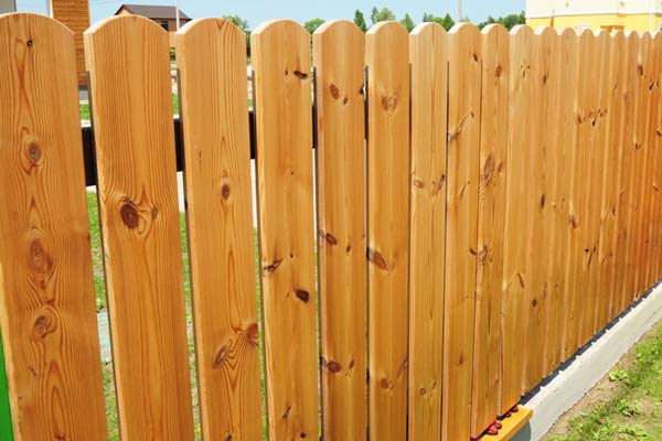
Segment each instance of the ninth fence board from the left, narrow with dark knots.
[{"label": "ninth fence board from the left, narrow with dark knots", "polygon": [[482,31],[482,94],[478,268],[474,320],[471,435],[478,437],[500,413],[501,281],[505,223],[505,161],[509,112],[509,42],[505,28]]}]

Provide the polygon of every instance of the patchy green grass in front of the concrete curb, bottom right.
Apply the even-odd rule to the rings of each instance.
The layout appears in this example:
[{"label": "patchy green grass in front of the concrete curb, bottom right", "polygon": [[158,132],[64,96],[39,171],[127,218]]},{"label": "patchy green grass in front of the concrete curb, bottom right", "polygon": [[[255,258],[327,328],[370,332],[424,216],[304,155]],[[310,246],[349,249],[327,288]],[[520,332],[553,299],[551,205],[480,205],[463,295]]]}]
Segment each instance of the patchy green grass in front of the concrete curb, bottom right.
[{"label": "patchy green grass in front of the concrete curb, bottom right", "polygon": [[637,344],[608,378],[612,392],[551,441],[662,440],[662,326]]}]

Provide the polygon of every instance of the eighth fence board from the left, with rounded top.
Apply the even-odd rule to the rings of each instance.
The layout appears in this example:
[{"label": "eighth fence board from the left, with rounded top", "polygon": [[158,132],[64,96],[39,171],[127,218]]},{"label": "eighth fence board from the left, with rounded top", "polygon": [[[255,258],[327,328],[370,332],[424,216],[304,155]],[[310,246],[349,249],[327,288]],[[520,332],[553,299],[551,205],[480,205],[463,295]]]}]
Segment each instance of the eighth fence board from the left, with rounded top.
[{"label": "eighth fence board from the left, with rounded top", "polygon": [[470,437],[478,250],[481,34],[472,24],[449,34],[446,295],[442,439]]}]

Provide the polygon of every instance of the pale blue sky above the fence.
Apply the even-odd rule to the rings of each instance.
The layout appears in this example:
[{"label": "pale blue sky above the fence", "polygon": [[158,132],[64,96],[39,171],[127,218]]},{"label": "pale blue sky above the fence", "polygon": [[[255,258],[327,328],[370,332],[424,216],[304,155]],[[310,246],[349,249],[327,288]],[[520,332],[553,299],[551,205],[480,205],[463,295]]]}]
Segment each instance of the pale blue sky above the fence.
[{"label": "pale blue sky above the fence", "polygon": [[[17,0],[19,11],[45,13],[47,0]],[[92,22],[115,13],[121,1],[89,0]],[[174,4],[174,0],[127,0],[127,3]],[[488,15],[499,17],[524,10],[525,0],[463,0],[462,15],[478,23]],[[303,23],[307,20],[352,19],[354,10],[361,9],[370,24],[373,6],[387,7],[398,19],[409,13],[419,22],[424,12],[455,17],[456,0],[180,0],[180,8],[193,18],[238,14],[248,20],[250,28],[271,19],[288,18]]]}]

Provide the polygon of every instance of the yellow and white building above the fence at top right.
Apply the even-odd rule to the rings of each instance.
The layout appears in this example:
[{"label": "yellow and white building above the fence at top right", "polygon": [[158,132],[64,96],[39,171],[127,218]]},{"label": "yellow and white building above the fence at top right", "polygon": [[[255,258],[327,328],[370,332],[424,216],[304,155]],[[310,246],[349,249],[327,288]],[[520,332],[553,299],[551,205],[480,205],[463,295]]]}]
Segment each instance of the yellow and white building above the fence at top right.
[{"label": "yellow and white building above the fence at top right", "polygon": [[526,0],[526,23],[540,26],[662,31],[662,0]]}]

